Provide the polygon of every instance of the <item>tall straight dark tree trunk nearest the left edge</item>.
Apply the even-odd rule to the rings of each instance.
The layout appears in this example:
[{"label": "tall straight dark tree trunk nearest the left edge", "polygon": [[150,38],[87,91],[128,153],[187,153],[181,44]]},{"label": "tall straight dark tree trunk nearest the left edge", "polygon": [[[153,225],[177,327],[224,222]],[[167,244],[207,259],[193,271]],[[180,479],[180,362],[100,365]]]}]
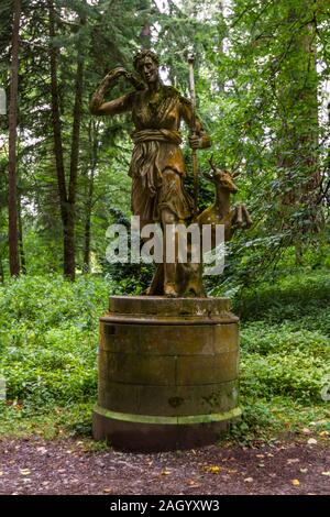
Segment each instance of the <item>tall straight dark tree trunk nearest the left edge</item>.
[{"label": "tall straight dark tree trunk nearest the left edge", "polygon": [[9,265],[10,274],[19,276],[19,234],[16,200],[16,127],[18,127],[18,84],[19,84],[19,35],[21,2],[13,2],[12,58],[9,103],[9,164],[8,164],[8,211],[9,211]]}]

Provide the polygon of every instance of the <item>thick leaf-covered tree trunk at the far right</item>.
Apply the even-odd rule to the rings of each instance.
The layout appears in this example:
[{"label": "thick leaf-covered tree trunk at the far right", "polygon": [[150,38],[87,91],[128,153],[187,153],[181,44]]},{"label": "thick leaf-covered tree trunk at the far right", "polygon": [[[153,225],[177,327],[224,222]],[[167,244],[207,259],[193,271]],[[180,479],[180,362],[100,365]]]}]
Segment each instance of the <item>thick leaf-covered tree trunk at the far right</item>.
[{"label": "thick leaf-covered tree trunk at the far right", "polygon": [[[296,9],[288,8],[288,22],[295,23],[301,12],[312,12],[312,1],[304,0]],[[316,67],[316,31],[314,23],[297,32],[288,50],[288,64],[278,80],[279,114],[283,120],[278,135],[280,154],[278,167],[285,194],[282,199],[283,228],[293,230],[296,261],[302,258],[302,235],[318,232],[321,211],[317,206],[320,173],[318,167],[318,74]],[[300,206],[304,217],[290,218]]]}]

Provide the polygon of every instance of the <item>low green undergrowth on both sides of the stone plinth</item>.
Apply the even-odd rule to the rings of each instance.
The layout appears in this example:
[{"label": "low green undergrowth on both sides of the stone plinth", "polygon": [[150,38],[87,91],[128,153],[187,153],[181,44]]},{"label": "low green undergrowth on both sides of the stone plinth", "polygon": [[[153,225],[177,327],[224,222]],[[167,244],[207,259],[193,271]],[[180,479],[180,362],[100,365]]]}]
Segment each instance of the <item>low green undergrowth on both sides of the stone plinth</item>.
[{"label": "low green undergrowth on both sides of the stone plinth", "polygon": [[[90,437],[98,317],[109,280],[22,277],[0,287],[0,435]],[[234,301],[241,329],[243,417],[230,440],[330,432],[330,275],[288,275]],[[324,397],[326,394],[326,397]],[[321,435],[320,435],[321,433]]]}]

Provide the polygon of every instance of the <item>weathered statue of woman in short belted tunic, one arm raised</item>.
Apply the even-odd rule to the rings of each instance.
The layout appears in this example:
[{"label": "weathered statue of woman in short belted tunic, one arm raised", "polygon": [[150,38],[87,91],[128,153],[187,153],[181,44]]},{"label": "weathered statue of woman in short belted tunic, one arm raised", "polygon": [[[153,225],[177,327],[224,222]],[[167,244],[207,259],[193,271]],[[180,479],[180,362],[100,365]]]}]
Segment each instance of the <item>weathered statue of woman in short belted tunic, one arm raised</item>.
[{"label": "weathered statue of woman in short belted tunic, one arm raised", "polygon": [[[162,82],[158,57],[154,52],[139,52],[133,65],[144,86],[124,68],[114,68],[94,94],[90,111],[92,114],[110,117],[132,112],[135,125],[132,133],[134,150],[129,170],[132,177],[132,212],[140,216],[141,228],[153,222],[162,224],[166,251],[166,224],[187,223],[193,217],[193,199],[183,184],[186,170],[179,147],[182,120],[193,132],[189,138],[191,148],[209,147],[210,139],[199,119],[194,117],[190,101],[176,88]],[[105,102],[107,90],[120,76],[128,79],[135,90]],[[177,260],[175,263],[164,261],[148,294],[172,297],[178,295]]]}]

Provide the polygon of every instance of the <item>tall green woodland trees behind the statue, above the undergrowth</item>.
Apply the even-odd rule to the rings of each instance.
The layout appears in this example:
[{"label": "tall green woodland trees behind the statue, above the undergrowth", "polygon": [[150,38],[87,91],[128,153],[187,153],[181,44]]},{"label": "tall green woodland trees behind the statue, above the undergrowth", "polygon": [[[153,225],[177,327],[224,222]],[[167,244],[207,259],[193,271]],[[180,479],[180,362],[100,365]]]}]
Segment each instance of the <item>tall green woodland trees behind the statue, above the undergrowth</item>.
[{"label": "tall green woodland trees behind the statue, above the undergrowth", "polygon": [[[95,119],[88,102],[111,68],[132,70],[141,47],[158,53],[164,80],[187,97],[187,53],[195,52],[198,112],[213,142],[200,155],[200,170],[213,154],[217,164],[239,172],[238,197],[253,215],[253,228],[235,235],[224,275],[213,278],[210,289],[220,282],[249,283],[282,260],[299,263],[311,250],[315,263],[324,255],[330,185],[324,0],[3,0],[0,9],[0,86],[16,116],[14,144],[10,120],[0,116],[2,278],[13,253],[8,239],[13,215],[19,272],[63,271],[72,279],[89,271],[113,274],[105,261],[105,233],[112,221],[130,217],[131,121]],[[127,88],[119,82],[112,95]],[[10,145],[15,194],[8,190]],[[189,169],[188,145],[184,154]],[[200,179],[200,206],[212,196]],[[140,289],[148,275],[133,270]],[[122,267],[123,280],[131,274]]]}]

